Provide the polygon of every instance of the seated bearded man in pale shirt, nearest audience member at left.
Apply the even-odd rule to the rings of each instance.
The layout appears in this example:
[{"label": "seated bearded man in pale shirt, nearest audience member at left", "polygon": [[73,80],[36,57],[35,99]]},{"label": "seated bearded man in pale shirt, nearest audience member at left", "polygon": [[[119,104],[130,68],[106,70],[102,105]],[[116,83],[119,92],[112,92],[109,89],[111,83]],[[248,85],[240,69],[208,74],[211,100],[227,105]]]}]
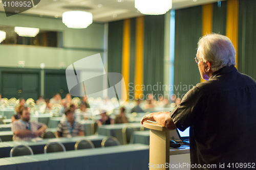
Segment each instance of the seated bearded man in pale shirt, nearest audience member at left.
[{"label": "seated bearded man in pale shirt, nearest audience member at left", "polygon": [[40,137],[45,132],[47,126],[42,123],[30,122],[30,112],[24,107],[20,112],[20,119],[12,123],[14,141],[31,140]]}]

